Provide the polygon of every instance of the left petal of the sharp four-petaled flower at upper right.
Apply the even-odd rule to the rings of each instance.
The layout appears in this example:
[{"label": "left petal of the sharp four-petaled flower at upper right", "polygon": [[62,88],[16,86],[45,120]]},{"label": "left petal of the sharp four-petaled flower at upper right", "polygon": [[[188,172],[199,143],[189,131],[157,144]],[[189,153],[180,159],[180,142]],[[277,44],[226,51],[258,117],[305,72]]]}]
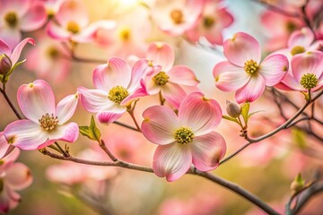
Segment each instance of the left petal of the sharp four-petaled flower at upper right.
[{"label": "left petal of the sharp four-petaled flower at upper right", "polygon": [[235,91],[249,82],[250,76],[243,68],[227,61],[214,66],[215,86],[223,91]]}]

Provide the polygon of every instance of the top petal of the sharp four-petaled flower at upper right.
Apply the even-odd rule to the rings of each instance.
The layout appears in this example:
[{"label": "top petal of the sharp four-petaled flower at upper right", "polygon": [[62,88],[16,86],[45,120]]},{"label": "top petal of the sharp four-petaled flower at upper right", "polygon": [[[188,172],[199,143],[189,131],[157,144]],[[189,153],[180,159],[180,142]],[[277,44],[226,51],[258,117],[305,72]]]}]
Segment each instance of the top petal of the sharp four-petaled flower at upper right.
[{"label": "top petal of the sharp four-petaled flower at upper right", "polygon": [[224,56],[232,64],[244,66],[248,60],[254,60],[258,64],[260,62],[261,50],[256,39],[249,34],[238,32],[233,38],[227,39],[223,43]]}]

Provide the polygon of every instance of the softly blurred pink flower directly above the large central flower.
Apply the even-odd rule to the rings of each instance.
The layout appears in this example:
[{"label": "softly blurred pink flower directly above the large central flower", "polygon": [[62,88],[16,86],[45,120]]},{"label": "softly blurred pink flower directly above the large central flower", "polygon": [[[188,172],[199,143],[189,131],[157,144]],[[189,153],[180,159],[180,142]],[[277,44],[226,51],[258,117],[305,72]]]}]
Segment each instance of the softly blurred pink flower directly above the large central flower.
[{"label": "softly blurred pink flower directly above the large central flower", "polygon": [[152,43],[147,50],[147,58],[153,64],[161,65],[162,70],[148,73],[144,78],[149,94],[162,93],[162,97],[170,104],[179,108],[180,102],[187,93],[197,91],[199,83],[196,75],[186,65],[175,65],[174,51],[166,43]]}]

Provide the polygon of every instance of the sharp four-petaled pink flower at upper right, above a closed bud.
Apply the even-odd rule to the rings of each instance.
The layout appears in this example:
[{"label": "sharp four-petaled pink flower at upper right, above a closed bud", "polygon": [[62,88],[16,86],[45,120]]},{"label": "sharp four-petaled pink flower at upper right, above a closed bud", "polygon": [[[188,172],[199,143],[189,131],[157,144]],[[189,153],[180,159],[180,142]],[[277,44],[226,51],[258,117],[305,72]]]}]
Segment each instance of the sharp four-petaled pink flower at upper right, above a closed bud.
[{"label": "sharp four-petaled pink flower at upper right, above a closed bud", "polygon": [[266,86],[281,82],[289,68],[287,57],[280,54],[266,56],[260,62],[258,41],[243,32],[225,40],[223,48],[228,61],[214,66],[215,85],[223,91],[236,90],[238,103],[258,99]]}]

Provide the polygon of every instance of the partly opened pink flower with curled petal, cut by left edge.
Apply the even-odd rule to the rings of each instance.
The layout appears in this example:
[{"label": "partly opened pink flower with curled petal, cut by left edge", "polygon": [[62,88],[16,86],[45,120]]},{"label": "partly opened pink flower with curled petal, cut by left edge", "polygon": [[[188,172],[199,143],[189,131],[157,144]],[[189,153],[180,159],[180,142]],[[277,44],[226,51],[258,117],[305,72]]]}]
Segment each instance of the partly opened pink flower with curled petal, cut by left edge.
[{"label": "partly opened pink flower with curled petal, cut by left edge", "polygon": [[22,48],[26,46],[27,43],[35,45],[33,39],[23,39],[12,51],[8,44],[0,39],[0,74],[3,75],[4,73],[11,72],[13,66],[18,63],[19,57],[22,54]]}]

